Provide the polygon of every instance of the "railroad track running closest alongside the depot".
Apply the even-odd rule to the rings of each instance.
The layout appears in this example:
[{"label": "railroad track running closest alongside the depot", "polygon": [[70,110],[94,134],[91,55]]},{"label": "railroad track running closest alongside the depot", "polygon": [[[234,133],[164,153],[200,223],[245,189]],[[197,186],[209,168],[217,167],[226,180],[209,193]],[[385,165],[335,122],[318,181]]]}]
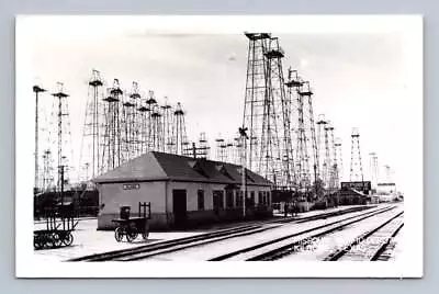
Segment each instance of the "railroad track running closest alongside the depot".
[{"label": "railroad track running closest alongside the depot", "polygon": [[301,217],[301,218],[290,217],[290,218],[285,218],[285,219],[263,220],[263,222],[258,222],[252,225],[245,225],[245,226],[239,226],[239,227],[234,227],[234,228],[228,228],[228,229],[222,229],[222,230],[216,230],[216,231],[212,231],[212,233],[207,233],[207,234],[200,234],[196,236],[191,236],[191,237],[185,237],[185,238],[166,240],[166,241],[139,246],[139,247],[135,247],[135,248],[128,248],[128,249],[122,249],[122,250],[115,250],[115,251],[108,251],[108,252],[103,252],[103,253],[95,253],[95,255],[91,255],[91,256],[85,256],[85,257],[80,257],[80,258],[70,259],[69,261],[109,261],[109,260],[134,261],[134,260],[140,260],[140,259],[146,259],[146,258],[149,258],[153,256],[158,256],[158,255],[164,255],[164,253],[169,253],[169,252],[187,249],[190,247],[196,247],[196,246],[206,245],[206,244],[211,244],[211,242],[215,242],[215,241],[221,241],[221,240],[225,240],[228,238],[243,237],[243,236],[248,236],[251,234],[261,233],[261,231],[264,231],[268,229],[279,227],[280,226],[279,224],[283,224],[283,223],[304,223],[304,222],[323,219],[323,218],[338,216],[338,215],[342,215],[342,214],[370,210],[373,207],[375,207],[375,206],[360,206],[360,207],[351,207],[351,208],[344,210],[344,211],[329,212],[329,213],[324,213],[320,215],[313,215],[313,216]]}]

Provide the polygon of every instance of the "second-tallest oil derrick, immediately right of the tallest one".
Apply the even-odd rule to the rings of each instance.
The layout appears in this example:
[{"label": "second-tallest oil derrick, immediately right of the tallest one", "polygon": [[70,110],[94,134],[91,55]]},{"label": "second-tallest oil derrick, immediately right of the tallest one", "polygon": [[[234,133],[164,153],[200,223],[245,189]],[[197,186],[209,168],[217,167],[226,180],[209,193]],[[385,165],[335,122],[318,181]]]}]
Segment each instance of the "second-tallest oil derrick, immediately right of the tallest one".
[{"label": "second-tallest oil derrick, immediately right of the tallest one", "polygon": [[[272,105],[269,104],[267,109],[267,113],[271,116],[271,122],[270,120],[266,122],[268,126],[268,137],[270,138],[268,142],[270,142],[272,149],[271,156],[273,157],[271,160],[266,160],[266,165],[269,161],[275,165],[275,170],[272,171],[273,174],[271,179],[278,180],[278,182],[274,181],[277,186],[291,189],[294,178],[290,167],[294,161],[291,140],[291,101],[285,95],[285,82],[282,68],[284,52],[279,46],[279,38],[270,38],[270,46],[264,55],[268,61],[268,100],[272,102]],[[273,108],[272,114],[270,113],[270,106]],[[262,148],[263,147],[264,144],[262,144]],[[269,154],[270,152],[267,155]]]}]

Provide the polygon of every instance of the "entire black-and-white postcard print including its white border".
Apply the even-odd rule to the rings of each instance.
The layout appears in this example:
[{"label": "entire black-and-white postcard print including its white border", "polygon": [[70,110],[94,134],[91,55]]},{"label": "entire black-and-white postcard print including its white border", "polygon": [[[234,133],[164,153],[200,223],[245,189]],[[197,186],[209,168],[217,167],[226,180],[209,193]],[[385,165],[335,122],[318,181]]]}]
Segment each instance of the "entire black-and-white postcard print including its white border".
[{"label": "entire black-and-white postcard print including its white border", "polygon": [[421,16],[19,15],[15,42],[18,276],[423,275]]}]

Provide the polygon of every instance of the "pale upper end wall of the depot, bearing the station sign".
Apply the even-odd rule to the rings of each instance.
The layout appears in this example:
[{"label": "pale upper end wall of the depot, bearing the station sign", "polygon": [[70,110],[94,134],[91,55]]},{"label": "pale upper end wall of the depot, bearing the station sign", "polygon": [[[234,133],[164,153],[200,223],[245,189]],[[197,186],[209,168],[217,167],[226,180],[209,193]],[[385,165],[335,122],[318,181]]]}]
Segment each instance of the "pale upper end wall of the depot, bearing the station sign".
[{"label": "pale upper end wall of the depot, bearing the station sign", "polygon": [[[124,184],[138,184],[139,189],[125,189]],[[99,186],[99,203],[104,204],[102,214],[120,213],[121,206],[131,206],[132,214],[138,212],[139,202],[150,202],[151,212],[165,213],[165,182],[105,183]]]}]

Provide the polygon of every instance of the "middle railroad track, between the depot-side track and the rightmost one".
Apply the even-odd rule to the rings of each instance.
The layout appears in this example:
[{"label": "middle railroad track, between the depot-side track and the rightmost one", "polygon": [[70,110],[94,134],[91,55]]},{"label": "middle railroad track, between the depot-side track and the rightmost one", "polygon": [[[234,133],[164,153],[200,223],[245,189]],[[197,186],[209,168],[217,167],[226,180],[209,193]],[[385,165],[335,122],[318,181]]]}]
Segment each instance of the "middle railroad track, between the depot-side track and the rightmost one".
[{"label": "middle railroad track, between the depot-side track and the rightmost one", "polygon": [[365,212],[360,215],[350,216],[344,219],[330,222],[324,225],[312,227],[299,233],[288,236],[275,238],[270,241],[261,242],[251,247],[243,248],[240,250],[222,255],[210,259],[210,261],[268,261],[278,260],[284,256],[291,255],[296,248],[308,242],[308,240],[330,234],[335,230],[342,229],[346,226],[370,218],[372,216],[394,210],[396,206],[389,206],[379,208],[372,212]]}]

